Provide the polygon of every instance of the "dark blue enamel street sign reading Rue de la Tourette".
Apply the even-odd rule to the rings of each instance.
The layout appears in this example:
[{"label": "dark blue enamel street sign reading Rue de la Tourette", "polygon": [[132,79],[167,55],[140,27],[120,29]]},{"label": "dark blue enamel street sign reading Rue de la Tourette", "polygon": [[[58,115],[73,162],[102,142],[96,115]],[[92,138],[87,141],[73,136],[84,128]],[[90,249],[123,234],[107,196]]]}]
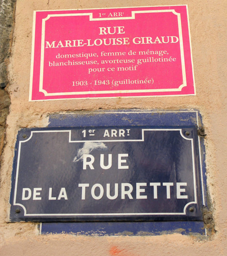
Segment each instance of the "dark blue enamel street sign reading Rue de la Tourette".
[{"label": "dark blue enamel street sign reading Rue de la Tourette", "polygon": [[11,221],[202,220],[197,128],[18,133]]}]

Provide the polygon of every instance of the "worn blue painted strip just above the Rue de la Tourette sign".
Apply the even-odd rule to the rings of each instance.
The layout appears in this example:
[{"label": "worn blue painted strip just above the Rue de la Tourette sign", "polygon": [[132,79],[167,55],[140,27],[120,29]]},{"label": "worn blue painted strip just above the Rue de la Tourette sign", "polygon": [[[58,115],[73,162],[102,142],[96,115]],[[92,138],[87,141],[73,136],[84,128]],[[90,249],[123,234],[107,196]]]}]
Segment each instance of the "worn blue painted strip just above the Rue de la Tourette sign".
[{"label": "worn blue painted strip just above the Rue de la Tourette sign", "polygon": [[[51,114],[48,127],[75,126],[192,126],[198,125],[197,111],[79,111],[74,114]],[[199,118],[200,119],[200,118]]]}]

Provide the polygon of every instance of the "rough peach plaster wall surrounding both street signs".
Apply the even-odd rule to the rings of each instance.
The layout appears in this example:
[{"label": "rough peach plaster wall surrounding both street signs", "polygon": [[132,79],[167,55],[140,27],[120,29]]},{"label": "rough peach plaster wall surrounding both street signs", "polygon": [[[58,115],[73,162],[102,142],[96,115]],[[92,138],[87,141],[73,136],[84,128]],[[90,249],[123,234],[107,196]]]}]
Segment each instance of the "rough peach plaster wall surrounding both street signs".
[{"label": "rough peach plaster wall surrounding both street signs", "polygon": [[[33,10],[188,4],[197,96],[28,102]],[[12,57],[8,65],[11,98],[0,173],[0,255],[226,255],[226,1],[212,0],[17,0]],[[16,134],[21,127],[45,127],[48,114],[117,108],[198,109],[207,137],[207,184],[216,233],[207,237],[38,235],[37,224],[6,223]]]}]

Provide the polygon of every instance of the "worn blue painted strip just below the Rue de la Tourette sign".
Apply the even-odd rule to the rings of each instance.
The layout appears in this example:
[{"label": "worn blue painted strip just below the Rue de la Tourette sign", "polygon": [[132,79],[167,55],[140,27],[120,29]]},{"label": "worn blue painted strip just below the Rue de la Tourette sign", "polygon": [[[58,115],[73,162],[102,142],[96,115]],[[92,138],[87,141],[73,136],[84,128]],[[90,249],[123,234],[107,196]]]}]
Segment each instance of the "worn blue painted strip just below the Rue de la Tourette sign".
[{"label": "worn blue painted strip just below the Rue de la Tourette sign", "polygon": [[45,222],[42,234],[75,234],[85,236],[155,236],[179,233],[205,235],[201,221],[165,222]]}]

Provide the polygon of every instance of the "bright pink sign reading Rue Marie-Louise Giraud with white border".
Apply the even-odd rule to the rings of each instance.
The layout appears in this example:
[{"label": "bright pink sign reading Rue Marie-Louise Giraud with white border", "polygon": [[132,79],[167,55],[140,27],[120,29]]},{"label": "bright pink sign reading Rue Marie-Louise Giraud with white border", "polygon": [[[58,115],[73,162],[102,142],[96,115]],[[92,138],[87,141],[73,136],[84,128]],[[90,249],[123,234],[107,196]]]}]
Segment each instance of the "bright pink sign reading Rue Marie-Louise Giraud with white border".
[{"label": "bright pink sign reading Rue Marie-Louise Giraud with white border", "polygon": [[195,95],[187,5],[35,11],[30,101]]}]

